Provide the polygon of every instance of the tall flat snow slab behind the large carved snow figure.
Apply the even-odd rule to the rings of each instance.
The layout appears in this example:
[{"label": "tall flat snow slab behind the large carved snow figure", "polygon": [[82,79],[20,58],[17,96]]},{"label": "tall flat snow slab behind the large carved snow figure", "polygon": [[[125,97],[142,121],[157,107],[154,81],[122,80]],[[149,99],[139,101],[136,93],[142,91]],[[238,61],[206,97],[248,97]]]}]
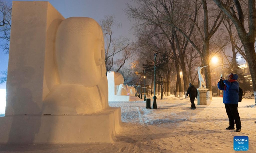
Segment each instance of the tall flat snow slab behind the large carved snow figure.
[{"label": "tall flat snow slab behind the large carved snow figure", "polygon": [[54,41],[64,19],[50,3],[13,1],[6,116],[41,114],[43,99],[58,82]]}]

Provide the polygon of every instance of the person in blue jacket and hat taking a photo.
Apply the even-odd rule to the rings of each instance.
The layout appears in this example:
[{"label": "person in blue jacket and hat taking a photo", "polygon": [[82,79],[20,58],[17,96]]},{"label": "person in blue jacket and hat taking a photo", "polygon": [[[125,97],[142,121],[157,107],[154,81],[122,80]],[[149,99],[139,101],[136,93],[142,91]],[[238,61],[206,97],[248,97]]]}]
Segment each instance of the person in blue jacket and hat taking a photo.
[{"label": "person in blue jacket and hat taking a photo", "polygon": [[229,126],[226,129],[235,129],[236,123],[236,132],[240,132],[242,126],[240,116],[237,110],[239,93],[239,83],[236,81],[237,79],[238,75],[235,73],[230,73],[227,80],[221,77],[220,82],[218,82],[218,88],[220,90],[223,90],[223,103],[225,105],[229,120]]}]

